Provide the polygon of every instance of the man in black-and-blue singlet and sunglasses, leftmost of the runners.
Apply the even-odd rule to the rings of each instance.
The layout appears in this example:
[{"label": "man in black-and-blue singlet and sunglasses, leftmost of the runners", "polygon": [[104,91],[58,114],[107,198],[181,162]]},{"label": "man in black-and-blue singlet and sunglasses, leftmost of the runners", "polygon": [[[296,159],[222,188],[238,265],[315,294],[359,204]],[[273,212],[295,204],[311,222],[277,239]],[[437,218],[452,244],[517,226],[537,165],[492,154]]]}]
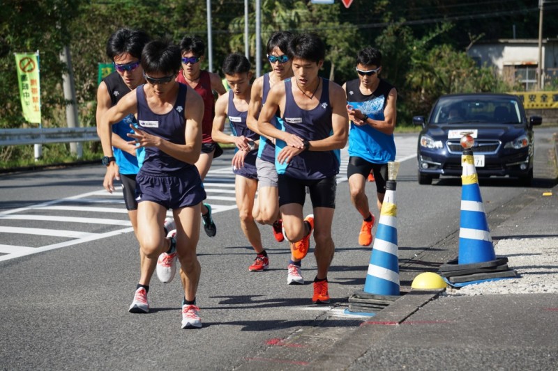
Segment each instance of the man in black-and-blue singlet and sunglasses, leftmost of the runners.
[{"label": "man in black-and-blue singlet and sunglasses, leftmost of the runners", "polygon": [[[97,90],[97,123],[103,114],[115,106],[122,97],[144,84],[143,68],[140,64],[142,49],[149,42],[149,36],[143,31],[134,29],[119,29],[114,32],[107,42],[107,56],[113,61],[116,71],[101,81]],[[128,115],[119,123],[112,125],[112,146],[114,150],[114,161],[120,169],[120,181],[122,193],[128,217],[137,237],[137,201],[135,200],[136,175],[140,171],[144,148],[137,148],[135,141],[130,141],[128,133],[133,133],[130,125],[137,125],[135,117]],[[106,157],[105,165],[110,164],[113,159]],[[174,229],[174,220],[165,219],[165,232]],[[131,313],[149,312],[147,293],[149,282],[156,268],[156,260],[145,259],[140,249],[140,281],[137,284],[134,299],[130,305]]]}]

